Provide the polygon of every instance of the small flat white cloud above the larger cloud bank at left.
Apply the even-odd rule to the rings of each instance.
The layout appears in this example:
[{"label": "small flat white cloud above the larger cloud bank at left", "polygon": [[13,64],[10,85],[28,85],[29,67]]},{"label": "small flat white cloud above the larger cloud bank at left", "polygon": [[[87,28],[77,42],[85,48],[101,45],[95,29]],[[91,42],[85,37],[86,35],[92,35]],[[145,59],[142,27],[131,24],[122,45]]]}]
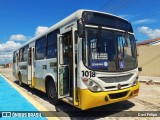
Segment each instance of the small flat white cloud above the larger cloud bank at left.
[{"label": "small flat white cloud above the larger cloud bank at left", "polygon": [[28,39],[30,39],[30,37],[24,36],[22,34],[11,35],[9,38],[10,41],[26,41]]}]

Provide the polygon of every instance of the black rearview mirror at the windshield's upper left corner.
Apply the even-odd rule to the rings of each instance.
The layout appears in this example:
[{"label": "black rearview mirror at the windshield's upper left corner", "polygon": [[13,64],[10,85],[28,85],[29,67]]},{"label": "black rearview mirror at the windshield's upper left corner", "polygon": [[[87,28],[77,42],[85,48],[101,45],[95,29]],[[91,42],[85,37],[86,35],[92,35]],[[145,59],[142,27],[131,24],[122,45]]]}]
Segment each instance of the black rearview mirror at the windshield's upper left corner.
[{"label": "black rearview mirror at the windshield's upper left corner", "polygon": [[80,38],[85,37],[85,28],[84,28],[84,21],[82,18],[77,20],[77,27],[78,27],[78,36]]}]

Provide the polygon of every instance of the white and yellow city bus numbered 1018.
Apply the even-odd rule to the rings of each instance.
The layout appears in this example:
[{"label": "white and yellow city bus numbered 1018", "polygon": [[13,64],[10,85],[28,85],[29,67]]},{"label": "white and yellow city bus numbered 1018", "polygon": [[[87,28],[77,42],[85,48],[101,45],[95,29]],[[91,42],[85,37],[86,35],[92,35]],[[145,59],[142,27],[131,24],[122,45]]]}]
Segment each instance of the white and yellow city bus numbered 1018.
[{"label": "white and yellow city bus numbered 1018", "polygon": [[139,92],[136,41],[130,22],[78,10],[13,53],[13,75],[82,110],[135,97]]}]

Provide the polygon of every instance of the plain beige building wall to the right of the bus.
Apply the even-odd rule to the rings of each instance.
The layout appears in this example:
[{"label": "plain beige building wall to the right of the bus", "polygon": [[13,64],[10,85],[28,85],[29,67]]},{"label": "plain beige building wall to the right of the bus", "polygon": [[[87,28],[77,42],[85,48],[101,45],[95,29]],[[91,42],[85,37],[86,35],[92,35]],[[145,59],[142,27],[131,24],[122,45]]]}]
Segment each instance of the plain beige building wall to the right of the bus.
[{"label": "plain beige building wall to the right of the bus", "polygon": [[160,77],[160,46],[138,46],[138,66],[141,76]]}]

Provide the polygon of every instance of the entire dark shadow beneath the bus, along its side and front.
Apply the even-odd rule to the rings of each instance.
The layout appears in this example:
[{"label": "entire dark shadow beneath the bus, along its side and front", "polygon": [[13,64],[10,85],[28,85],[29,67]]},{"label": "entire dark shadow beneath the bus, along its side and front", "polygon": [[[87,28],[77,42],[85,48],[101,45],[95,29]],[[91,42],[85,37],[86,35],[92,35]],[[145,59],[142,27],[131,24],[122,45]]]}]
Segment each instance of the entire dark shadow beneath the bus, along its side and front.
[{"label": "entire dark shadow beneath the bus, along its side and front", "polygon": [[[17,85],[18,81],[14,81]],[[30,88],[28,85],[25,85],[25,90],[30,92],[32,95],[35,95],[46,102],[48,102],[47,95],[37,89]],[[43,96],[43,97],[42,97]],[[51,104],[52,105],[52,104]],[[59,105],[55,106],[56,111],[49,111],[51,114],[49,114],[49,117],[70,117],[70,119],[76,119],[76,120],[82,120],[82,119],[98,119],[102,117],[124,117],[126,114],[124,111],[128,110],[129,108],[132,108],[135,106],[134,103],[130,101],[122,101],[117,102],[109,105],[104,105],[101,107],[91,108],[88,110],[80,110],[79,108],[76,108],[68,103],[65,103],[63,101],[60,102]],[[47,113],[44,113],[47,114]]]}]

